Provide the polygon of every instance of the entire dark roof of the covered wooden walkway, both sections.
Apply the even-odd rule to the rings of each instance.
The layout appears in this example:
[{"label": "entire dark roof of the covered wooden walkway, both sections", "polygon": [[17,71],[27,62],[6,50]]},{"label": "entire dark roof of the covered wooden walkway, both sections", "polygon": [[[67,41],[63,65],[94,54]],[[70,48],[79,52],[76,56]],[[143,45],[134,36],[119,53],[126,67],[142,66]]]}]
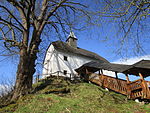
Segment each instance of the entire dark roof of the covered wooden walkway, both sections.
[{"label": "entire dark roof of the covered wooden walkway, both sections", "polygon": [[124,65],[124,64],[114,64],[107,62],[89,62],[78,69],[77,72],[85,70],[85,68],[89,69],[91,72],[96,72],[100,69],[105,69],[108,71],[114,71],[118,73],[125,73],[130,75],[139,76],[139,73],[143,75],[143,77],[150,76],[150,60],[141,60],[133,65]]}]

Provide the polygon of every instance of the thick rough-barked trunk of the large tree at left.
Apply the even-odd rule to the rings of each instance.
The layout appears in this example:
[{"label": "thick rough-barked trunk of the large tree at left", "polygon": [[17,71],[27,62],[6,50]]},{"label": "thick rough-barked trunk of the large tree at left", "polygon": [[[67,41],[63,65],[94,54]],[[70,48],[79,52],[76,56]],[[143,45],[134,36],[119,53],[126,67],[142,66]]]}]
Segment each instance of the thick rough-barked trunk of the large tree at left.
[{"label": "thick rough-barked trunk of the large tree at left", "polygon": [[36,58],[36,53],[30,55],[27,53],[26,48],[20,50],[20,61],[17,70],[15,88],[11,99],[12,101],[30,93],[32,89],[33,74],[35,73]]}]

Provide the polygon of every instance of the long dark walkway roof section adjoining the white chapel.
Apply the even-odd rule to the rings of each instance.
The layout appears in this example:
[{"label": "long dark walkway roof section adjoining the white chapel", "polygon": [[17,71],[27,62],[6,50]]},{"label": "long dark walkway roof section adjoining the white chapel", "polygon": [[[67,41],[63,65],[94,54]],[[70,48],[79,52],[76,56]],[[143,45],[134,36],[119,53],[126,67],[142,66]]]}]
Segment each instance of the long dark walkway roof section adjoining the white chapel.
[{"label": "long dark walkway roof section adjoining the white chapel", "polygon": [[114,64],[114,63],[109,63],[109,62],[89,62],[78,69],[76,69],[77,72],[82,71],[84,68],[88,68],[91,72],[98,71],[100,69],[105,69],[108,71],[114,71],[114,72],[122,72],[124,69],[128,68],[129,65],[124,65],[124,64]]}]

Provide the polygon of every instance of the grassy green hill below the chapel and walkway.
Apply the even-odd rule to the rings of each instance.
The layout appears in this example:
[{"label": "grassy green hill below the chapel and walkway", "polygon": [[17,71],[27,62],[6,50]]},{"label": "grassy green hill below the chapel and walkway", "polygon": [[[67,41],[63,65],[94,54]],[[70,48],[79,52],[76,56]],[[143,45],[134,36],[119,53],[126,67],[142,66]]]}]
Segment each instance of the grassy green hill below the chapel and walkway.
[{"label": "grassy green hill below the chapel and walkway", "polygon": [[32,94],[0,108],[0,113],[149,113],[125,96],[88,83],[72,83],[52,77],[34,84]]}]

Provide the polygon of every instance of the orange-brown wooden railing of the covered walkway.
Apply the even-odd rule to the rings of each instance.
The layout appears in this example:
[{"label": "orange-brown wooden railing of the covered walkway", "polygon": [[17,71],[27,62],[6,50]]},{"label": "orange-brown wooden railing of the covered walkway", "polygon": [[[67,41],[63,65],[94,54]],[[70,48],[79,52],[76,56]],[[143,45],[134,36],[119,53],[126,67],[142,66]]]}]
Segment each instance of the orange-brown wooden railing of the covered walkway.
[{"label": "orange-brown wooden railing of the covered walkway", "polygon": [[150,81],[138,79],[127,82],[126,80],[95,73],[93,77],[89,76],[89,81],[103,88],[126,95],[129,99],[150,99]]}]

